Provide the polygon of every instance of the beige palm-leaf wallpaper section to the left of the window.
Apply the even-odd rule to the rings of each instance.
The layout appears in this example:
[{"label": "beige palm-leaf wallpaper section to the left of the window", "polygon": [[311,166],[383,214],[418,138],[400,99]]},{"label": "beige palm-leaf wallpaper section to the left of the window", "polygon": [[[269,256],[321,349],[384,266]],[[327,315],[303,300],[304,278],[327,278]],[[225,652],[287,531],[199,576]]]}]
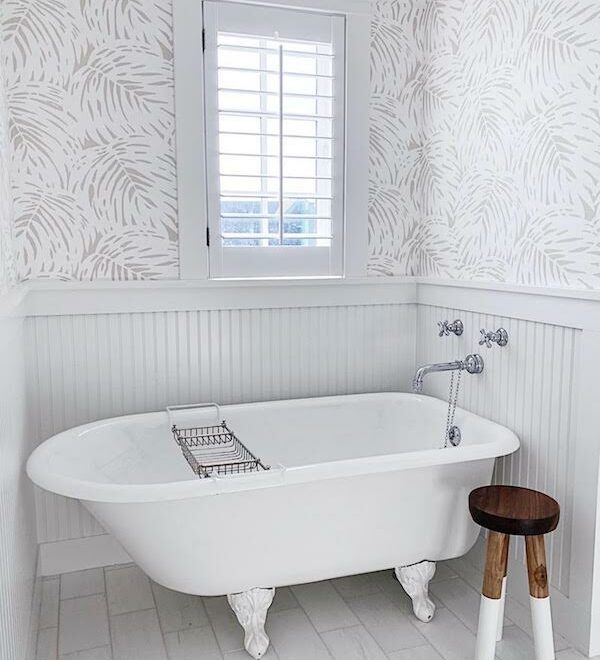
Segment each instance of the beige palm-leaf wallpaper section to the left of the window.
[{"label": "beige palm-leaf wallpaper section to the left of the window", "polygon": [[20,275],[177,278],[169,4],[2,4]]}]

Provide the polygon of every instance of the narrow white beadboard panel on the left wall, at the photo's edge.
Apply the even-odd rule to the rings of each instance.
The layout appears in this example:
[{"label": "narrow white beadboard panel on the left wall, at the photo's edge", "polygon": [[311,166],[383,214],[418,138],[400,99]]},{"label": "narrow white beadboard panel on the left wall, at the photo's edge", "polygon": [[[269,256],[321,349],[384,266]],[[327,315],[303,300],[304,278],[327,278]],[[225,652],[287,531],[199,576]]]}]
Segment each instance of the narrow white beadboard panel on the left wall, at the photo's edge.
[{"label": "narrow white beadboard panel on the left wall, at the photo's edge", "polygon": [[26,660],[31,650],[37,542],[29,454],[23,319],[0,315],[0,658]]}]

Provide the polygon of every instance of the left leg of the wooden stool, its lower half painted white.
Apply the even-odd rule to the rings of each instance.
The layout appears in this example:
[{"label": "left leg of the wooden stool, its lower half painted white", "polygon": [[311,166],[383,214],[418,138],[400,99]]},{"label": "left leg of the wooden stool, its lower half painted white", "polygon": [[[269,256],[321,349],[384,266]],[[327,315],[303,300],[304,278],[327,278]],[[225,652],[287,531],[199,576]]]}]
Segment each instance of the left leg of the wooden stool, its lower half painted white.
[{"label": "left leg of the wooden stool, its lower half painted white", "polygon": [[502,582],[508,559],[508,541],[507,534],[489,532],[475,660],[494,660],[496,655],[496,635],[502,605]]}]

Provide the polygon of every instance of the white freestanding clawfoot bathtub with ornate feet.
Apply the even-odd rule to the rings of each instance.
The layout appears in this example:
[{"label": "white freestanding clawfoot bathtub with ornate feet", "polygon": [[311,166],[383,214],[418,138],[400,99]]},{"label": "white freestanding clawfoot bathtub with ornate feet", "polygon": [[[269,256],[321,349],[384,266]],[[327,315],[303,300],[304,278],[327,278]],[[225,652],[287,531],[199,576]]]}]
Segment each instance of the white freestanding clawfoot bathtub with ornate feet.
[{"label": "white freestanding clawfoot bathtub with ornate feet", "polygon": [[396,568],[416,616],[431,619],[434,562],[465,554],[478,535],[469,492],[519,446],[508,429],[457,409],[462,442],[441,448],[446,408],[399,393],[225,406],[220,417],[271,469],[204,479],[166,412],[131,415],[50,438],[27,471],[81,500],[156,582],[228,595],[259,658],[284,585]]}]

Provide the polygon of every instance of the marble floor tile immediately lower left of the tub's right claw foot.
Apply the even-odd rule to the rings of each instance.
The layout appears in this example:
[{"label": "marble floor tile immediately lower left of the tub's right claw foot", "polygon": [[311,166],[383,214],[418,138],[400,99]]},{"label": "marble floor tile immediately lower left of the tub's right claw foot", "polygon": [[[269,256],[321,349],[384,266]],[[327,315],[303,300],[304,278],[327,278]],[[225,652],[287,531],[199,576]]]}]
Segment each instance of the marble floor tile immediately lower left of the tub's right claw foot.
[{"label": "marble floor tile immediately lower left of the tub's right claw foot", "polygon": [[350,598],[348,604],[386,653],[426,643],[408,616],[386,594]]}]

